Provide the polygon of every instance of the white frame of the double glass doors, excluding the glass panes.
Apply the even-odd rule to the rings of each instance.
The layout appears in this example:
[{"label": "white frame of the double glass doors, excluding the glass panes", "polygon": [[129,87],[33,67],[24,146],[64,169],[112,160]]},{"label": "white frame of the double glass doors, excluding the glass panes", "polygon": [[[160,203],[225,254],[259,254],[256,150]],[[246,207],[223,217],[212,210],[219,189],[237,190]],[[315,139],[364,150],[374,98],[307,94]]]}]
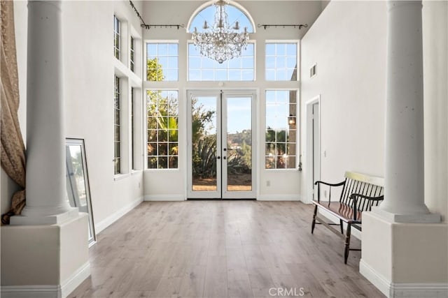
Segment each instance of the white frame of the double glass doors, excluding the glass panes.
[{"label": "white frame of the double glass doors, excluding the glass panes", "polygon": [[[258,89],[225,89],[225,88],[214,88],[214,89],[187,89],[186,90],[186,101],[187,101],[187,133],[186,133],[186,137],[187,137],[187,158],[186,158],[186,174],[187,174],[187,179],[186,179],[186,198],[188,199],[196,199],[195,195],[193,195],[193,191],[191,191],[191,186],[193,185],[193,176],[191,173],[191,156],[192,156],[192,144],[191,144],[191,123],[192,123],[192,114],[191,114],[191,109],[192,109],[192,105],[191,105],[191,100],[190,100],[190,94],[195,94],[195,95],[199,95],[199,96],[219,96],[218,97],[218,103],[222,103],[226,101],[225,98],[232,98],[232,97],[248,97],[251,96],[252,100],[251,100],[251,110],[252,110],[252,114],[251,114],[251,131],[252,131],[252,190],[245,192],[245,191],[235,191],[235,192],[228,192],[223,188],[223,171],[225,170],[224,167],[221,167],[221,181],[217,181],[218,184],[221,183],[221,185],[218,185],[218,189],[220,190],[218,196],[219,198],[216,199],[256,199],[258,196]],[[222,97],[221,97],[222,96]],[[221,147],[220,149],[222,150],[223,147],[223,142],[227,142],[224,139],[224,135],[225,133],[223,133],[223,127],[225,127],[226,125],[224,125],[224,121],[225,119],[223,119],[223,110],[227,110],[227,107],[222,107],[222,106],[217,107],[217,113],[220,113],[219,117],[217,117],[217,121],[218,119],[221,119],[221,124],[218,124],[217,126],[221,127],[221,139],[220,140],[216,140],[217,141],[217,147],[218,144],[220,144]],[[218,152],[218,154],[223,154],[223,152]],[[222,158],[221,158],[222,161]],[[218,170],[218,167],[217,167]],[[200,193],[200,192],[197,192]],[[202,196],[200,196],[202,197]],[[205,195],[203,196],[203,199],[214,199],[214,198],[207,198],[208,196]],[[202,199],[202,198],[199,198]]]}]

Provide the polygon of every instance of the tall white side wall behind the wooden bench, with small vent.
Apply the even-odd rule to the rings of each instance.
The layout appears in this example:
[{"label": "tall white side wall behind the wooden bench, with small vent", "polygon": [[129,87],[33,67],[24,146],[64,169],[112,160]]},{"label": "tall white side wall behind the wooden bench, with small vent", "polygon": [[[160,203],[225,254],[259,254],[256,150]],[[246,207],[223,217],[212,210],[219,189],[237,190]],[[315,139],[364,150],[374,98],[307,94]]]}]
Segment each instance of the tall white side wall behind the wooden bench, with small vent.
[{"label": "tall white side wall behind the wooden bench, with small vent", "polygon": [[[304,103],[321,95],[325,181],[342,181],[346,170],[383,176],[385,12],[383,1],[331,1],[302,39],[302,126]],[[314,64],[316,76],[310,78]]]}]

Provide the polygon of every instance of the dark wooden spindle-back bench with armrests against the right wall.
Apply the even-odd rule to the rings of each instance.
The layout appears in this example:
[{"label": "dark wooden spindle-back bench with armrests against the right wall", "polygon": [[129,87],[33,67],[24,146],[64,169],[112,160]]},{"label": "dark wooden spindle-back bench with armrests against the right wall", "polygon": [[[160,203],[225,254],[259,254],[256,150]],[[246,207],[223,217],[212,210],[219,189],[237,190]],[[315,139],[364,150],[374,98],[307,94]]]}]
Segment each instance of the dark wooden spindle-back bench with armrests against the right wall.
[{"label": "dark wooden spindle-back bench with armrests against the right wall", "polygon": [[[365,174],[355,172],[345,172],[345,180],[330,184],[323,181],[316,181],[317,185],[317,201],[313,200],[314,215],[311,223],[311,234],[317,224],[323,224],[332,232],[335,232],[342,239],[345,238],[344,263],[347,263],[349,251],[360,251],[360,248],[350,248],[351,227],[361,230],[360,224],[363,211],[370,211],[372,206],[378,206],[379,202],[384,199],[384,179],[380,177],[372,177]],[[321,186],[328,189],[328,201],[321,200]],[[340,187],[342,186],[342,189]],[[340,189],[339,201],[331,200],[331,190],[337,187]],[[327,223],[317,214],[318,209],[323,209],[328,213],[339,218],[339,223]],[[346,223],[346,234],[344,237],[344,223]],[[340,232],[331,225],[339,225]]]}]

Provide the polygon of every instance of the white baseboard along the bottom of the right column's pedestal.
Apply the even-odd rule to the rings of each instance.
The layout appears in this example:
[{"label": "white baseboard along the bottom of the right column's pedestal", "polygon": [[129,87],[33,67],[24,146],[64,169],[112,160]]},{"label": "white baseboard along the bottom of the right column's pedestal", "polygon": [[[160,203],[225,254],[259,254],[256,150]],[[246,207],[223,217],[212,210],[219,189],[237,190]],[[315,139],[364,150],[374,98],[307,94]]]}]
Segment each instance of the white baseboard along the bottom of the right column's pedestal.
[{"label": "white baseboard along the bottom of the right column's pedestal", "polygon": [[448,297],[448,283],[391,283],[362,259],[359,271],[388,298]]}]

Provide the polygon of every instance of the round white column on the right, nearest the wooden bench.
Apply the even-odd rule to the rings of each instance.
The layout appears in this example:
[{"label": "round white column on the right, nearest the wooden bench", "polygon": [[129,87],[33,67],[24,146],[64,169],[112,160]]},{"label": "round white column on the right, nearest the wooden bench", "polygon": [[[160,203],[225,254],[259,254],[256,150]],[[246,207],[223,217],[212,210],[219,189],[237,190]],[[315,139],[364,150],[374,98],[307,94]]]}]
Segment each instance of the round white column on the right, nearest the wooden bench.
[{"label": "round white column on the right, nearest the wooden bench", "polygon": [[395,222],[435,223],[424,202],[421,1],[387,2],[384,202]]}]

